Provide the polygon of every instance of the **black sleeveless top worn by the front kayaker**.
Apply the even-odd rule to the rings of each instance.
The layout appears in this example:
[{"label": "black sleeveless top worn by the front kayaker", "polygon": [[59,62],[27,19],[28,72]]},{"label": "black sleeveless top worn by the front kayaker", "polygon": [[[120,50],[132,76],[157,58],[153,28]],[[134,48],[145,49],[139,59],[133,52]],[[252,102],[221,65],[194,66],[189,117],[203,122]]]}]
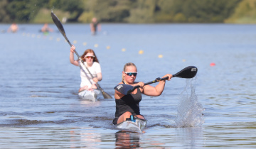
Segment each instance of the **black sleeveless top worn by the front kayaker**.
[{"label": "black sleeveless top worn by the front kayaker", "polygon": [[142,101],[142,92],[137,89],[136,94],[124,95],[121,99],[115,99],[116,112],[113,124],[117,124],[119,116],[129,111],[133,116],[139,115],[139,102]]}]

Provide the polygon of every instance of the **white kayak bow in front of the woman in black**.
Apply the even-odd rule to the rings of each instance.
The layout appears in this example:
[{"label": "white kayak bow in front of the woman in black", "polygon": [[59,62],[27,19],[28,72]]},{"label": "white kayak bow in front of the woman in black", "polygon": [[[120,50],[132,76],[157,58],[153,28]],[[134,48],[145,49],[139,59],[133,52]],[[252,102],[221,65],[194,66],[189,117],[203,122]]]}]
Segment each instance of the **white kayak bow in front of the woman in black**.
[{"label": "white kayak bow in front of the woman in black", "polygon": [[134,118],[134,121],[127,120],[117,124],[117,128],[124,131],[134,131],[142,133],[143,129],[146,128],[146,120],[141,118]]}]

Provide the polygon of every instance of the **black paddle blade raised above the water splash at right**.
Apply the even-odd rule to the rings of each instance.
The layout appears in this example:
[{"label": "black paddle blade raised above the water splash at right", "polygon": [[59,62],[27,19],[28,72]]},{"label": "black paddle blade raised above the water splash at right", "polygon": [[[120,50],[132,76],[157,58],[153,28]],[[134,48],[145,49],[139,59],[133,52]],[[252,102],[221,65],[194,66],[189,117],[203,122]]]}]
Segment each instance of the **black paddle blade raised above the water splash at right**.
[{"label": "black paddle blade raised above the water splash at right", "polygon": [[183,70],[179,71],[173,77],[181,77],[181,78],[193,78],[196,76],[198,69],[195,66],[188,66]]}]

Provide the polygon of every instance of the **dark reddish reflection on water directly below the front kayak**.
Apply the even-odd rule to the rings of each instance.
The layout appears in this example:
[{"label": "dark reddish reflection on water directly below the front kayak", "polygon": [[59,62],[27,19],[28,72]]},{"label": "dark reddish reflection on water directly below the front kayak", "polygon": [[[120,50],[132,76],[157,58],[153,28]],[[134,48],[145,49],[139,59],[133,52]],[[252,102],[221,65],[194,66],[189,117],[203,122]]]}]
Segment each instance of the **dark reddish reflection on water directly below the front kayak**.
[{"label": "dark reddish reflection on water directly below the front kayak", "polygon": [[115,133],[115,148],[139,148],[140,137],[140,133],[117,131],[117,133]]}]

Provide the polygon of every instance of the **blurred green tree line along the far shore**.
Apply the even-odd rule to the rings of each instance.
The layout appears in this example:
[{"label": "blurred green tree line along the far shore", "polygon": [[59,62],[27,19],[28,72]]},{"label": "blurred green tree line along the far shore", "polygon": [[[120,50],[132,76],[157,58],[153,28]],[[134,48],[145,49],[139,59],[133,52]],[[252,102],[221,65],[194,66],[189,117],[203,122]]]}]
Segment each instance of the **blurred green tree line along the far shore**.
[{"label": "blurred green tree line along the far shore", "polygon": [[256,0],[1,0],[0,22],[51,23],[53,11],[80,23],[233,23],[255,19],[255,8]]}]

